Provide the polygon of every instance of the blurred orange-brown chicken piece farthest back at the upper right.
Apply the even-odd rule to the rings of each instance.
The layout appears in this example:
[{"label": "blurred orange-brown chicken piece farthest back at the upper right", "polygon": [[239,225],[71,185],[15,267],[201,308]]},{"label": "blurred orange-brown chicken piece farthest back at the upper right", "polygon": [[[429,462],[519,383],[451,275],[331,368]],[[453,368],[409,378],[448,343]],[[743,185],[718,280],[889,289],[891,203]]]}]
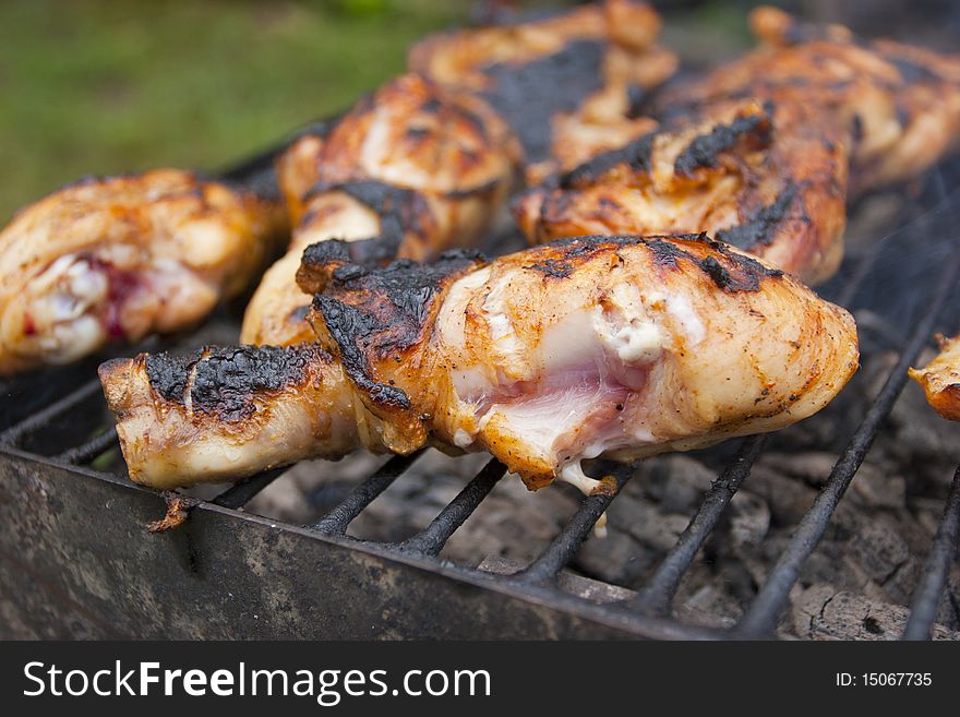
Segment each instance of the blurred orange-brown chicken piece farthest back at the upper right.
[{"label": "blurred orange-brown chicken piece farthest back at the upper right", "polygon": [[775,8],[749,23],[757,50],[663,93],[659,107],[743,96],[814,107],[851,139],[852,194],[914,177],[960,146],[960,55],[866,40]]}]

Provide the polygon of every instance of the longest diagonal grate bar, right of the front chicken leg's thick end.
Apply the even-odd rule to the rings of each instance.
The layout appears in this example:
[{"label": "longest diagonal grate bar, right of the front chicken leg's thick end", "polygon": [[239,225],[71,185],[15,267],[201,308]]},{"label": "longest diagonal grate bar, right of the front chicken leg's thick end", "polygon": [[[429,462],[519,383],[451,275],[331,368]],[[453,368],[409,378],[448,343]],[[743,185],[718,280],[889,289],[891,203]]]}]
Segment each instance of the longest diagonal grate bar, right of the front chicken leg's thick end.
[{"label": "longest diagonal grate bar, right of the front chicken leg's thick end", "polygon": [[940,273],[926,304],[926,312],[916,323],[897,365],[887,377],[887,382],[864,416],[860,428],[847,444],[813,505],[804,514],[790,538],[790,543],[768,575],[767,582],[760,587],[756,598],[744,613],[737,625],[737,632],[741,634],[765,636],[773,632],[780,611],[789,598],[790,588],[800,576],[803,563],[820,541],[837,504],[856,475],[884,420],[893,408],[893,404],[907,383],[907,370],[929,340],[934,322],[953,287],[958,268],[960,268],[960,251],[953,253]]}]

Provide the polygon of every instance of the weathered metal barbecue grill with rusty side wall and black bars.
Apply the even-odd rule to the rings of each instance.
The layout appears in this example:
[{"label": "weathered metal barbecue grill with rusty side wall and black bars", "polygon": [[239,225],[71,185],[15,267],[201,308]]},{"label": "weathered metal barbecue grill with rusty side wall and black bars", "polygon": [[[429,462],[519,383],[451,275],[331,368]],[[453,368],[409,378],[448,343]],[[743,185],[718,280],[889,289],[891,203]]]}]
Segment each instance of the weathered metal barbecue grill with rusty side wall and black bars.
[{"label": "weathered metal barbecue grill with rusty side wall and black bars", "polygon": [[[315,128],[308,128],[311,131]],[[221,177],[271,187],[272,160],[286,146]],[[347,528],[421,456],[385,461],[333,510],[300,526],[244,511],[286,469],[274,469],[209,500],[183,498],[188,519],[149,534],[170,497],[131,483],[95,378],[95,361],[22,377],[5,386],[0,415],[0,636],[2,637],[409,637],[409,638],[755,638],[776,634],[807,558],[881,431],[921,351],[937,328],[955,328],[944,311],[960,306],[960,163],[934,172],[917,200],[923,212],[869,249],[851,252],[821,294],[854,310],[888,303],[913,277],[911,300],[886,312],[899,358],[796,526],[766,581],[730,629],[673,617],[681,582],[697,560],[770,438],[748,437],[719,471],[699,509],[638,591],[568,570],[601,514],[634,474],[598,463],[616,491],[596,493],[552,542],[516,572],[441,557],[451,536],[505,474],[491,459],[420,533],[400,542],[347,535]],[[933,199],[931,199],[933,196]],[[919,251],[929,236],[933,251]],[[926,238],[925,238],[926,237]],[[507,241],[508,243],[508,241]],[[892,260],[890,258],[893,258]],[[916,275],[928,280],[919,284]],[[876,286],[890,286],[877,298]],[[889,308],[889,307],[888,307]],[[236,332],[236,324],[233,325]],[[199,338],[187,339],[197,345]],[[156,348],[156,346],[151,346]],[[123,349],[131,355],[136,349]],[[103,358],[103,357],[101,357]],[[791,430],[791,429],[784,429]],[[92,437],[92,438],[91,438]],[[925,558],[903,638],[928,638],[960,542],[960,468]]]}]

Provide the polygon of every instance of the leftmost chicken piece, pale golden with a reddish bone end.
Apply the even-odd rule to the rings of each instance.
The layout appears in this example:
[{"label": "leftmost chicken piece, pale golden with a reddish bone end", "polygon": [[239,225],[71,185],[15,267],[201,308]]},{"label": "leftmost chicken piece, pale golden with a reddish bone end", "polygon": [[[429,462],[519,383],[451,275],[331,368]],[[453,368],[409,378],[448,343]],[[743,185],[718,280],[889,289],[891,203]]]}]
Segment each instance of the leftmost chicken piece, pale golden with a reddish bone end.
[{"label": "leftmost chicken piece, pale golden with a reddish bone end", "polygon": [[176,169],[50,194],[0,234],[0,374],[190,326],[286,228],[278,203]]}]

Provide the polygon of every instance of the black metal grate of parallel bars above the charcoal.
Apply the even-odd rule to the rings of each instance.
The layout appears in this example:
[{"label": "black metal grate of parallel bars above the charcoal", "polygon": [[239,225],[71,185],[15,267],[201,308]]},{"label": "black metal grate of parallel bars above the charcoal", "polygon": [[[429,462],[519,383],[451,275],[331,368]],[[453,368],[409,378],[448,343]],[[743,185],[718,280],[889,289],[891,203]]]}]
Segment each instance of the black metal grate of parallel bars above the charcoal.
[{"label": "black metal grate of parallel bars above the charcoal", "polygon": [[[263,169],[263,160],[244,167],[248,174],[262,172]],[[233,176],[236,177],[237,172]],[[878,251],[867,253],[854,266],[840,295],[841,302],[849,303],[852,300],[860,283],[871,273]],[[586,498],[547,549],[530,565],[512,575],[495,575],[478,569],[451,565],[439,558],[446,541],[470,517],[503,477],[505,468],[495,459],[490,461],[423,530],[403,542],[386,545],[359,540],[347,536],[347,527],[417,461],[420,453],[389,458],[367,480],[359,483],[336,507],[308,528],[316,539],[347,542],[358,549],[374,549],[381,554],[397,558],[412,558],[418,565],[432,565],[433,570],[442,570],[445,574],[463,578],[472,586],[472,589],[495,590],[528,602],[545,604],[555,610],[576,613],[611,626],[622,634],[661,638],[772,636],[801,569],[824,536],[835,509],[855,478],[857,469],[900,395],[907,381],[907,368],[916,361],[927,344],[940,308],[950,296],[958,271],[960,271],[960,251],[955,252],[944,262],[933,290],[916,315],[912,318],[913,331],[903,344],[899,360],[889,371],[886,383],[862,422],[853,431],[820,493],[800,522],[767,581],[760,586],[741,622],[732,630],[717,631],[684,625],[669,616],[679,585],[736,491],[748,479],[752,466],[764,451],[766,437],[749,437],[742,441],[736,455],[720,473],[676,545],[667,553],[647,585],[635,596],[612,602],[574,596],[565,591],[562,584],[564,569],[574,559],[600,515],[616,499],[617,493],[629,479],[633,473],[631,466],[612,464],[599,466],[599,475],[613,476],[613,489]],[[81,385],[0,433],[0,452],[29,457],[33,454],[24,446],[32,437],[41,433],[57,419],[83,413],[85,406],[100,401],[98,395],[98,381],[94,380]],[[101,410],[101,404],[99,405]],[[116,447],[116,431],[111,429],[77,445],[63,447],[53,458],[35,457],[38,461],[52,461],[67,467],[89,466],[98,456]],[[211,503],[228,511],[239,511],[283,473],[284,469],[275,469],[254,476],[227,489]],[[91,469],[84,469],[83,475],[116,480],[103,471]],[[155,538],[144,536],[144,539]],[[912,600],[909,622],[903,633],[904,638],[929,637],[937,604],[944,594],[948,571],[956,557],[958,539],[960,539],[960,468],[953,479],[943,518]],[[480,624],[478,624],[478,635],[483,635]]]}]

